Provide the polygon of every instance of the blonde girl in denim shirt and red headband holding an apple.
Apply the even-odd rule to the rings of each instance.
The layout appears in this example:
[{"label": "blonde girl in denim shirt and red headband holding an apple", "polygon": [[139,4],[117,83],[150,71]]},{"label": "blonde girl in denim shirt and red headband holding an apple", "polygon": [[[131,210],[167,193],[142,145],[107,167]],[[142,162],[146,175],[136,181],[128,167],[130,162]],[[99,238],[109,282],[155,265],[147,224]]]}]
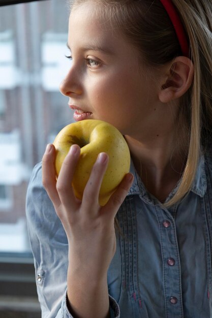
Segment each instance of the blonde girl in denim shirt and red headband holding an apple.
[{"label": "blonde girl in denim shirt and red headband holding an apple", "polygon": [[211,0],[71,5],[60,90],[122,132],[131,172],[100,207],[101,153],[80,201],[79,146],[57,181],[47,146],[26,199],[42,317],[212,317]]}]

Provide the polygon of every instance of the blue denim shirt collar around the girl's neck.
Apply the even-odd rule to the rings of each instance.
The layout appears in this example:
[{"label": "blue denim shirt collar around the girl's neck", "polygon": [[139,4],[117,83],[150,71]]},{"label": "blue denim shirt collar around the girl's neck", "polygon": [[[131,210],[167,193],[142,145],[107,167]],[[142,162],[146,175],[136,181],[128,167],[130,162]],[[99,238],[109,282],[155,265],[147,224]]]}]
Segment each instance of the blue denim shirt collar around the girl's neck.
[{"label": "blue denim shirt collar around the girl's neck", "polygon": [[[130,172],[134,175],[134,181],[130,188],[128,196],[140,195],[143,198],[146,197],[148,202],[152,201],[152,196],[147,193],[144,184],[142,183],[140,177],[138,176],[135,170],[132,159],[130,164]],[[173,189],[172,193],[169,195],[167,199],[170,199],[170,197],[173,197],[178,187],[179,187],[179,183]],[[197,172],[191,186],[191,191],[195,193],[196,195],[203,197],[205,195],[206,189],[207,189],[207,181],[206,181],[206,174],[205,174],[205,159],[204,159],[204,155],[201,155],[199,158]]]}]

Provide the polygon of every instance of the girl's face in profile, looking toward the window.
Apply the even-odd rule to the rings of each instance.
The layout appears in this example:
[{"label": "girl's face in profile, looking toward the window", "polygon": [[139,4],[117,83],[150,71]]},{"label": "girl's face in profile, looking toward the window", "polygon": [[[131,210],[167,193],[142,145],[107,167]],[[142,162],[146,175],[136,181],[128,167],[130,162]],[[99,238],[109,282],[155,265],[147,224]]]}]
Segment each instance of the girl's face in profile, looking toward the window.
[{"label": "girl's face in profile, looking toward the window", "polygon": [[105,120],[135,138],[149,133],[159,102],[158,75],[138,64],[138,50],[96,16],[92,2],[72,11],[68,46],[72,61],[60,91],[76,110],[75,120]]}]

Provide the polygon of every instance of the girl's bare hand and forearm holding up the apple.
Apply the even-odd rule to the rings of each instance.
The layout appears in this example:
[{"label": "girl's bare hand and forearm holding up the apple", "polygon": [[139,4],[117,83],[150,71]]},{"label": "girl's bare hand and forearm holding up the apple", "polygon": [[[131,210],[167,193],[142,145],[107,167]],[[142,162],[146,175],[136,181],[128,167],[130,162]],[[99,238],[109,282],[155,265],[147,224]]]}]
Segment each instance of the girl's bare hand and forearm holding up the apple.
[{"label": "girl's bare hand and forearm holding up the apple", "polygon": [[43,156],[42,178],[69,243],[67,305],[74,318],[109,318],[107,271],[116,249],[114,217],[129,192],[133,176],[127,174],[107,204],[100,206],[99,193],[109,156],[98,156],[82,200],[75,197],[71,187],[80,147],[71,147],[57,180],[55,156],[55,148],[49,145]]}]

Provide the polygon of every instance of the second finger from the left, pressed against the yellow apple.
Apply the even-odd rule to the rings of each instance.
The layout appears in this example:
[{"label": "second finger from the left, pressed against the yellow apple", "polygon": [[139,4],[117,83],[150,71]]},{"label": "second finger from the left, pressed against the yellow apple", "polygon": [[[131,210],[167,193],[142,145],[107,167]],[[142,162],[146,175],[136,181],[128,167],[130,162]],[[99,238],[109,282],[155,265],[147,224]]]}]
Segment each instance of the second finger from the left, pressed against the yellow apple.
[{"label": "second finger from the left, pressed against the yellow apple", "polygon": [[74,205],[77,202],[72,187],[72,179],[77,162],[79,160],[79,156],[80,147],[78,145],[72,145],[67,156],[65,157],[57,178],[56,188],[59,199],[67,207],[72,206],[74,208]]}]

